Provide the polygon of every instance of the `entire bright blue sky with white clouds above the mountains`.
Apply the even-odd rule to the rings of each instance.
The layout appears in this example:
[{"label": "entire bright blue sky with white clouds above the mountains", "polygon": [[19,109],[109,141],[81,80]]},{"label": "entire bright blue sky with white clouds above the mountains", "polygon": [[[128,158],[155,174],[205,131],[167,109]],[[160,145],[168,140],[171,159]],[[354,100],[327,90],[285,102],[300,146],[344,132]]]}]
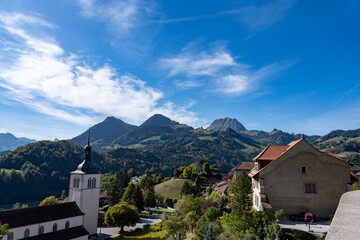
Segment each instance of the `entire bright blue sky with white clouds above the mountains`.
[{"label": "entire bright blue sky with white clouds above the mountains", "polygon": [[106,116],[325,134],[360,127],[359,1],[1,1],[0,132]]}]

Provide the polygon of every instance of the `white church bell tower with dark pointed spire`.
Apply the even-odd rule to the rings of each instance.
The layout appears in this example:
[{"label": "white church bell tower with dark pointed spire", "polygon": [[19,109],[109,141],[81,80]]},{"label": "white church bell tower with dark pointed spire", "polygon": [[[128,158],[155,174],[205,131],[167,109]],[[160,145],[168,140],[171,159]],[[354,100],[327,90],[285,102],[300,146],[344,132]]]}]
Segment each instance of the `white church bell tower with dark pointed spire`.
[{"label": "white church bell tower with dark pointed spire", "polygon": [[91,163],[90,129],[84,150],[84,161],[70,173],[69,201],[77,203],[85,214],[85,229],[89,235],[94,235],[97,233],[101,174]]}]

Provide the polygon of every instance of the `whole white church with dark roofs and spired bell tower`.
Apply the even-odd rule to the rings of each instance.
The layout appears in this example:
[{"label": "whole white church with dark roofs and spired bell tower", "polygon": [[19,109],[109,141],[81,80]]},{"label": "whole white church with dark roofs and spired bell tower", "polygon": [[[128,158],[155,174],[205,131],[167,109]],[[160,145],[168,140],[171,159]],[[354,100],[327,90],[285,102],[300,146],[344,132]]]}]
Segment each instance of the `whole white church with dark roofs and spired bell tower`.
[{"label": "whole white church with dark roofs and spired bell tower", "polygon": [[91,163],[91,146],[84,161],[70,173],[69,196],[61,204],[0,212],[11,234],[3,240],[87,240],[97,234],[101,174]]}]

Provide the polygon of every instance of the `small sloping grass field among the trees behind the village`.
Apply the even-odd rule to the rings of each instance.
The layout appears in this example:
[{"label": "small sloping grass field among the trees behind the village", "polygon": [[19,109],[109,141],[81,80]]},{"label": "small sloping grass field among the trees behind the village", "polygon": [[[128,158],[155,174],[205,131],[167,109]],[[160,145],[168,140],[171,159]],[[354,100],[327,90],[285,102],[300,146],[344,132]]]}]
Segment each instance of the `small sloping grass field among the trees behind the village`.
[{"label": "small sloping grass field among the trees behind the village", "polygon": [[187,179],[170,179],[169,181],[155,185],[155,192],[166,198],[180,199],[180,192]]}]

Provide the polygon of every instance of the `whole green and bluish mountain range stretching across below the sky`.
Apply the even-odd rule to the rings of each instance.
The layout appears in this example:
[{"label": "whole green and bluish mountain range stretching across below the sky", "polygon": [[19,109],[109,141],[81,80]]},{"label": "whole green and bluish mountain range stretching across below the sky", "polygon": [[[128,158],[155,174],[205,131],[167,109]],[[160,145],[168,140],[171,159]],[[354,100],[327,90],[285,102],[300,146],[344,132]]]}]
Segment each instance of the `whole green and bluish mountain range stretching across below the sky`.
[{"label": "whole green and bluish mountain range stretching across below the sky", "polygon": [[[195,129],[159,114],[140,126],[108,117],[89,130],[92,159],[102,173],[134,168],[165,176],[201,160],[230,170],[250,161],[268,144],[286,145],[301,137],[277,129],[247,130],[234,118],[218,119],[207,129]],[[4,186],[0,196],[6,196],[0,198],[0,205],[59,196],[67,189],[68,173],[82,161],[88,134],[87,130],[68,141],[39,141],[0,153],[0,186]],[[360,129],[305,138],[320,150],[359,161]]]}]

